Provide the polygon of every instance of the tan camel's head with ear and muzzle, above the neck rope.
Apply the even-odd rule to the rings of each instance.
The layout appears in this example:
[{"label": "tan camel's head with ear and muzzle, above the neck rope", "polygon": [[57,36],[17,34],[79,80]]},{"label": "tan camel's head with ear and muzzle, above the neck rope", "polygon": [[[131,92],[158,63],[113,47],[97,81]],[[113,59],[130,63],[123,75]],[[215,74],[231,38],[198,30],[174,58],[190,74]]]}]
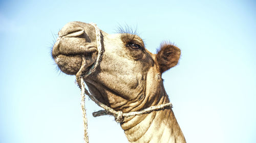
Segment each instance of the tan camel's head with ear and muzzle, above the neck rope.
[{"label": "tan camel's head with ear and muzzle, above the neck rope", "polygon": [[[91,24],[70,22],[58,35],[52,56],[62,72],[75,75],[81,67],[82,55],[86,68],[94,64],[98,50],[95,28]],[[137,35],[103,31],[101,45],[99,65],[84,79],[96,99],[123,112],[138,111],[162,102],[161,75],[177,65],[178,47],[162,43],[157,54],[153,54]]]}]

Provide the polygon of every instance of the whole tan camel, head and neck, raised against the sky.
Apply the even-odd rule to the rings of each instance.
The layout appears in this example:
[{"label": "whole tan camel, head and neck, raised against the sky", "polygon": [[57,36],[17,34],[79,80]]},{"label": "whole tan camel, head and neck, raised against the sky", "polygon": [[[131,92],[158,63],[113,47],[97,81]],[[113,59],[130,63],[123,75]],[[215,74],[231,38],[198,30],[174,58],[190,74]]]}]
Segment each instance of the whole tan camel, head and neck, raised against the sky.
[{"label": "whole tan camel, head and neck, raised against the sky", "polygon": [[[99,65],[83,79],[90,93],[101,103],[124,113],[169,103],[162,74],[178,64],[180,49],[165,42],[153,54],[136,34],[100,33],[103,52]],[[52,57],[59,69],[76,75],[82,56],[86,59],[83,71],[90,69],[98,56],[94,26],[69,22],[58,35]],[[186,142],[170,106],[125,117],[120,126],[129,142]]]}]

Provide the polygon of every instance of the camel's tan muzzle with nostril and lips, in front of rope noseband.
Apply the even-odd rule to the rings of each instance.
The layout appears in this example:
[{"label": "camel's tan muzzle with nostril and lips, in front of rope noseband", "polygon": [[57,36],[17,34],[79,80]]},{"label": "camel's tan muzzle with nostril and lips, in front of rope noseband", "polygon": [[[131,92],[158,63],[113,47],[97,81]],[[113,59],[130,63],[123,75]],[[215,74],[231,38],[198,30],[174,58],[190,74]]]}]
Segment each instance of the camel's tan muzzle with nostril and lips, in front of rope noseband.
[{"label": "camel's tan muzzle with nostril and lips, in front of rope noseband", "polygon": [[82,55],[86,58],[83,70],[95,63],[98,55],[96,39],[88,36],[86,31],[96,35],[90,30],[88,25],[70,22],[59,31],[59,37],[52,49],[52,57],[62,72],[75,75],[81,67]]}]

